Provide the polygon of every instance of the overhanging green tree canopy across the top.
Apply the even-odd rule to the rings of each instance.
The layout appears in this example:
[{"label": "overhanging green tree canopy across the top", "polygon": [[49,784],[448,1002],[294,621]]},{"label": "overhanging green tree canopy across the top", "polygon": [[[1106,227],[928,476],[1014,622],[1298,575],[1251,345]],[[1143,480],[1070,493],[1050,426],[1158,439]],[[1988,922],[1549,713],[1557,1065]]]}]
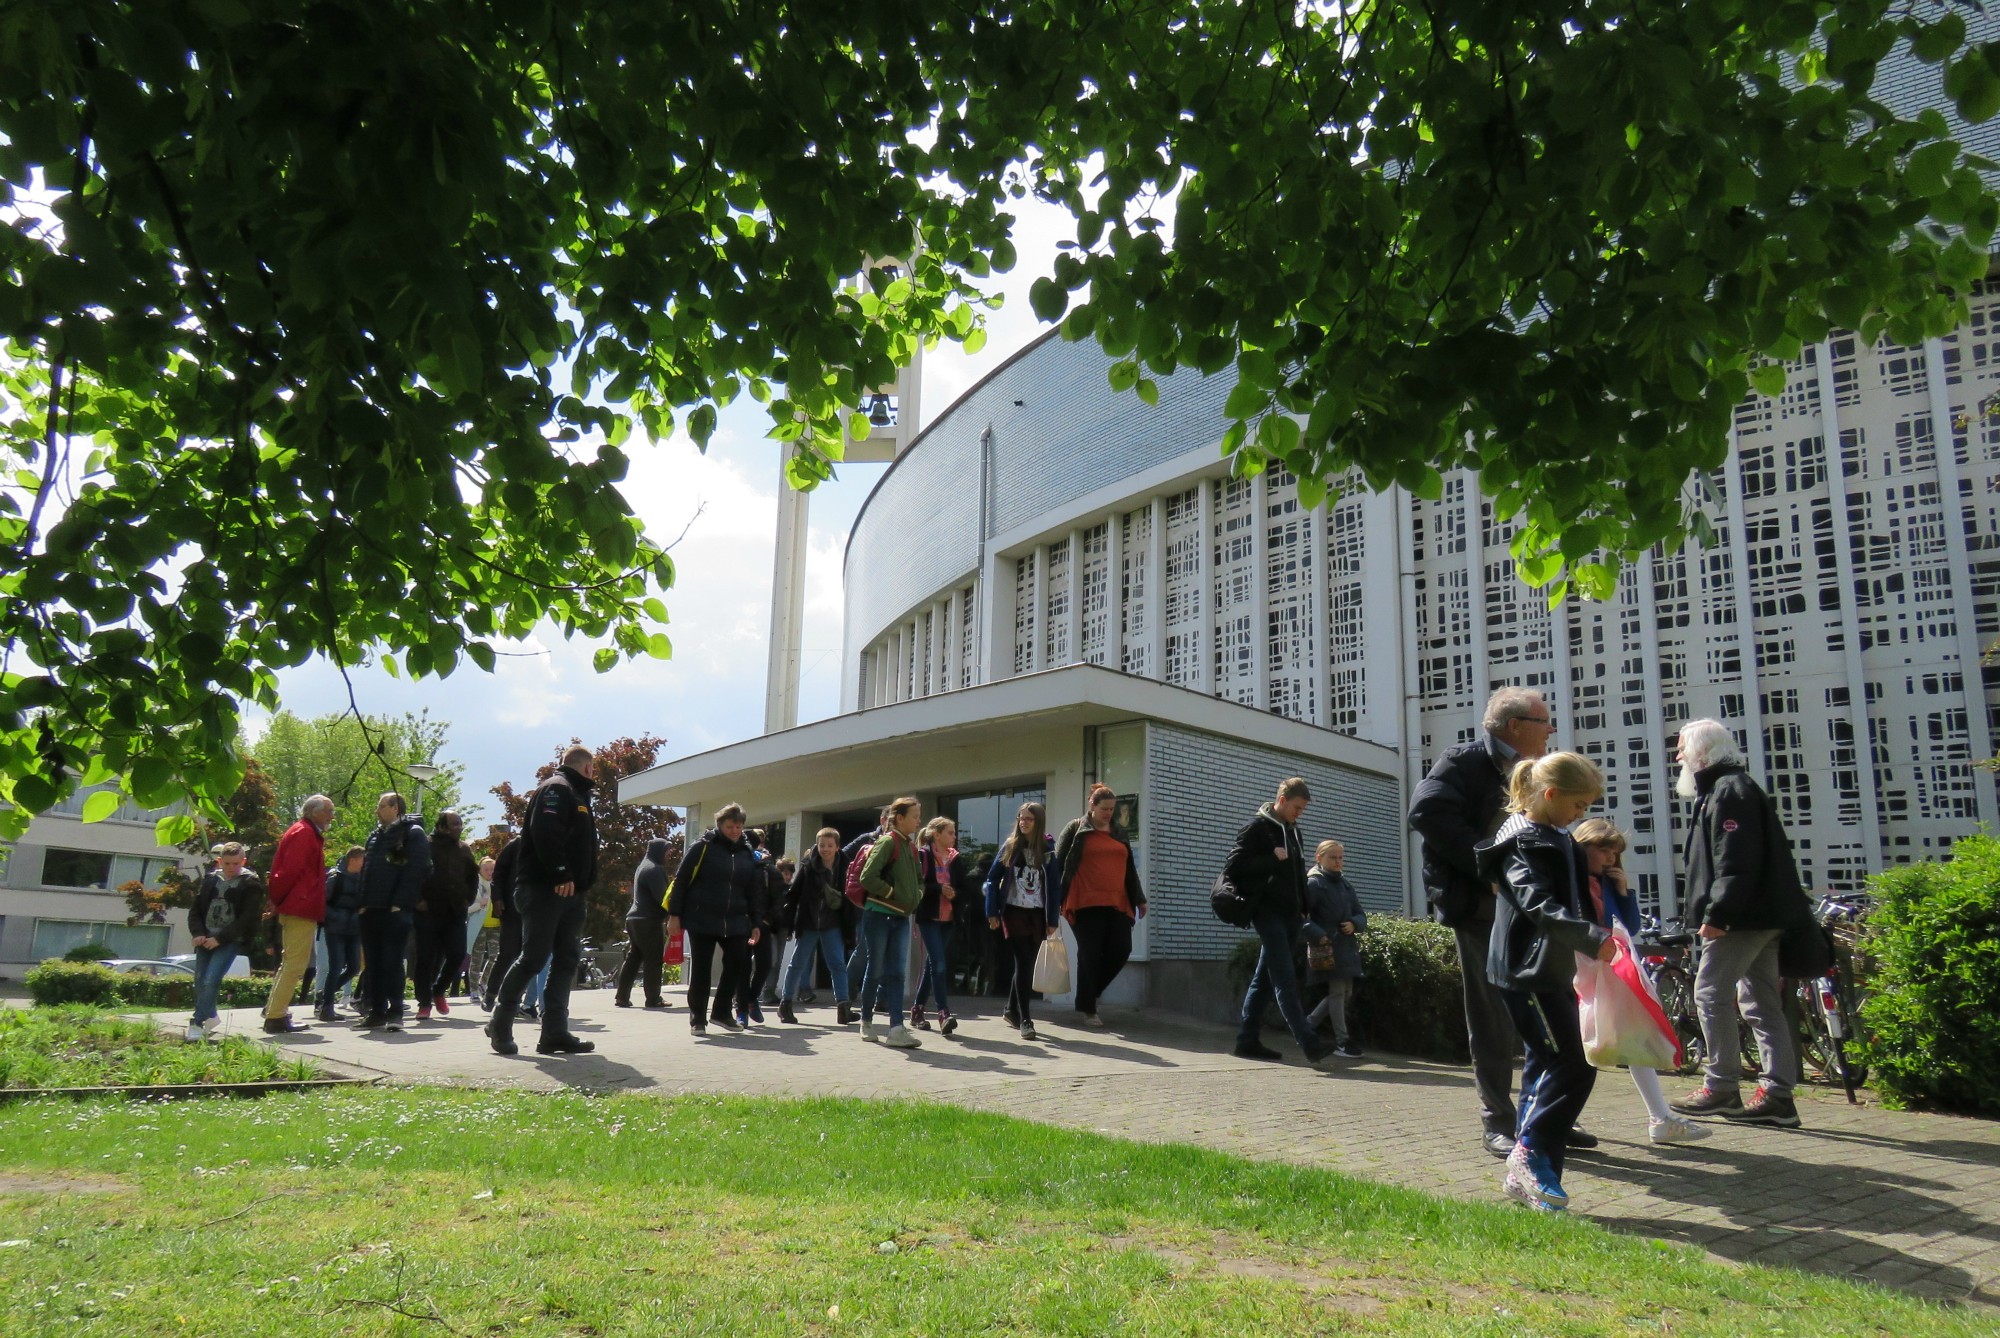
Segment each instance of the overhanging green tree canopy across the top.
[{"label": "overhanging green tree canopy across the top", "polygon": [[982,340],[1026,192],[1114,384],[1234,376],[1226,448],[1308,500],[1472,464],[1600,588],[1770,360],[1962,314],[1994,202],[1872,84],[1992,116],[1972,14],[8,0],[0,834],[76,778],[228,796],[236,702],[314,652],[668,654],[630,434],[748,394],[824,478],[918,342]]}]

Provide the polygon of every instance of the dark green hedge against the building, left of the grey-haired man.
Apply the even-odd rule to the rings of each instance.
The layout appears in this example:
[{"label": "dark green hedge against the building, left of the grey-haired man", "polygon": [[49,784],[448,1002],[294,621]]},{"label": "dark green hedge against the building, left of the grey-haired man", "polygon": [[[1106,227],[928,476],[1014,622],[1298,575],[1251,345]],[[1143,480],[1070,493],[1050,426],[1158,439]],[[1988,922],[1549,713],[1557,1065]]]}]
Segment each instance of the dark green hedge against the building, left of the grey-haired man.
[{"label": "dark green hedge against the building, left of the grey-haired man", "polygon": [[[1452,932],[1430,920],[1368,916],[1368,930],[1360,940],[1364,974],[1348,1000],[1348,1030],[1354,1040],[1394,1054],[1468,1062],[1466,1006]],[[1230,950],[1228,980],[1238,998],[1250,990],[1256,954],[1256,938],[1244,938]],[[1304,980],[1304,956],[1298,970]],[[1308,1006],[1318,996],[1320,990],[1308,984]]]}]

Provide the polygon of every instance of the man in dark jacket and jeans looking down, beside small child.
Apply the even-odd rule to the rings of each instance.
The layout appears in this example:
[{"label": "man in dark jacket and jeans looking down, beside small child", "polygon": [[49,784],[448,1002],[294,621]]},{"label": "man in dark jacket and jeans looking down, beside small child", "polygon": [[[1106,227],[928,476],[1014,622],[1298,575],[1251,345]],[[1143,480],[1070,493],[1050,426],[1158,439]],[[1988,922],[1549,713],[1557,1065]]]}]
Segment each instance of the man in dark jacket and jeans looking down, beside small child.
[{"label": "man in dark jacket and jeans looking down, beside small child", "polygon": [[1250,974],[1244,994],[1242,1022],[1236,1030],[1234,1054],[1244,1060],[1276,1060],[1276,1050],[1258,1040],[1264,1008],[1272,994],[1278,1012],[1292,1028],[1292,1038],[1306,1052],[1308,1064],[1318,1064],[1332,1052],[1306,1020],[1306,1004],[1298,998],[1298,930],[1306,922],[1306,844],[1298,836],[1298,818],[1306,812],[1312,792],[1298,776],[1278,786],[1278,798],[1256,810],[1256,816],[1236,834],[1222,876],[1236,884],[1252,906],[1250,928],[1264,948]]}]

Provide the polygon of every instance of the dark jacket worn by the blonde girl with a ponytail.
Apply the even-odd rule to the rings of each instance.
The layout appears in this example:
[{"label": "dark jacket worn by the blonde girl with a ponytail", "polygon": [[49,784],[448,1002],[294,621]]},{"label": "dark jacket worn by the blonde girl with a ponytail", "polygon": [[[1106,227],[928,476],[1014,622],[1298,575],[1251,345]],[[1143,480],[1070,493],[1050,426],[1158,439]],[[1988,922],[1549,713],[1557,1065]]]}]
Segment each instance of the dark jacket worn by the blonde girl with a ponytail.
[{"label": "dark jacket worn by the blonde girl with a ponytail", "polygon": [[1574,988],[1576,954],[1596,956],[1610,930],[1590,914],[1590,872],[1570,834],[1514,814],[1478,848],[1478,868],[1498,888],[1486,978],[1530,994]]}]

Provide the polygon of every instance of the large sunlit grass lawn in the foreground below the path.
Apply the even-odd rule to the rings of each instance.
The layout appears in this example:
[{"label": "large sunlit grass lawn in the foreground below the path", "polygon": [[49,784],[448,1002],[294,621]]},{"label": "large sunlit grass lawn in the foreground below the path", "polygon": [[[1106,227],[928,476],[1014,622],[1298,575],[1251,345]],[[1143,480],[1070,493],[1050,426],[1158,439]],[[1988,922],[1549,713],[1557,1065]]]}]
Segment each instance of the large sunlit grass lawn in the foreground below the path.
[{"label": "large sunlit grass lawn in the foreground below the path", "polygon": [[0,1108],[0,1332],[1990,1334],[1508,1204],[948,1106]]}]

